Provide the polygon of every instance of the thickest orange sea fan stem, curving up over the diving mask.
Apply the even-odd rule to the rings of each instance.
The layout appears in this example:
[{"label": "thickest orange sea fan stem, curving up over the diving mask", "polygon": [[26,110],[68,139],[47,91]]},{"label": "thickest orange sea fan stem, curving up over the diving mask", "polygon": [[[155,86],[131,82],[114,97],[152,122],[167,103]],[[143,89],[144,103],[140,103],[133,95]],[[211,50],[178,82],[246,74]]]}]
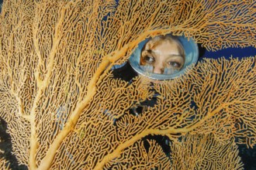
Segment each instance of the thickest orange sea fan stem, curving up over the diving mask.
[{"label": "thickest orange sea fan stem, curving up over the diving mask", "polygon": [[98,82],[99,77],[102,75],[104,70],[106,70],[106,67],[109,66],[109,63],[116,62],[116,60],[121,58],[123,56],[123,54],[127,52],[127,50],[133,49],[135,46],[137,46],[137,44],[140,41],[145,39],[147,36],[155,35],[157,33],[162,33],[162,32],[163,33],[167,32],[167,30],[164,30],[164,29],[157,30],[156,29],[156,30],[144,32],[143,34],[141,34],[138,37],[138,39],[135,39],[133,42],[131,42],[129,44],[129,46],[128,45],[123,46],[123,48],[120,49],[119,51],[117,51],[117,52],[115,51],[102,59],[102,63],[99,65],[99,68],[97,69],[96,73],[92,77],[92,80],[90,80],[90,83],[88,83],[88,88],[87,88],[88,93],[87,93],[86,97],[84,98],[84,100],[81,101],[81,103],[78,104],[78,107],[76,107],[75,110],[73,111],[73,113],[71,114],[71,117],[67,121],[64,129],[61,131],[60,134],[57,135],[57,137],[55,138],[52,145],[50,145],[50,148],[47,151],[47,155],[45,156],[45,158],[43,158],[43,161],[41,162],[40,166],[38,167],[39,169],[50,168],[50,164],[54,159],[53,153],[56,153],[57,149],[61,145],[61,142],[64,140],[64,138],[67,136],[67,134],[69,134],[71,131],[73,131],[74,126],[75,126],[75,124],[77,124],[78,118],[79,118],[82,110],[85,109],[85,107],[88,105],[89,101],[92,99],[92,97],[94,97],[94,95],[96,93],[96,84],[99,83]]}]

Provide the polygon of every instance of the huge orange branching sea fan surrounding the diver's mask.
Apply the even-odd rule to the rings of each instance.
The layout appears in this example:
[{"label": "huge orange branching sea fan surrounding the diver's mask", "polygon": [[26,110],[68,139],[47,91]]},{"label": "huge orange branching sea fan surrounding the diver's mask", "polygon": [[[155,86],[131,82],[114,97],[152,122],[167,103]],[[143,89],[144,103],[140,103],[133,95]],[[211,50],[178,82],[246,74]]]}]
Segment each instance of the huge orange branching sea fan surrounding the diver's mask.
[{"label": "huge orange branching sea fan surrounding the diver's mask", "polygon": [[[194,138],[181,138],[210,135],[206,145],[227,148],[219,158],[237,153],[230,141],[253,147],[255,57],[207,59],[185,76],[160,83],[143,77],[116,80],[110,68],[126,61],[139,42],[159,34],[192,37],[210,50],[256,47],[255,3],[6,0],[0,22],[0,116],[8,123],[19,164],[30,169],[180,166],[169,161],[177,155],[164,155],[154,141],[144,148],[142,138],[149,134],[195,147]],[[154,94],[154,107],[130,113]],[[230,162],[240,168],[239,158]]]}]

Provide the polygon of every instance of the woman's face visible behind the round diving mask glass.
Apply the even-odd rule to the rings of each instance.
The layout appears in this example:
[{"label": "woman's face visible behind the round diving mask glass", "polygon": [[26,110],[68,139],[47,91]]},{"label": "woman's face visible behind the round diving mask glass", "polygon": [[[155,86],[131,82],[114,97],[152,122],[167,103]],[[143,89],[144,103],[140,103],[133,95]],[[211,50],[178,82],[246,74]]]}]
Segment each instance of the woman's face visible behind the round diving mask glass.
[{"label": "woman's face visible behind the round diving mask glass", "polygon": [[140,58],[140,65],[153,66],[153,73],[157,74],[163,74],[165,68],[168,73],[181,70],[184,63],[181,45],[169,39],[161,39],[153,46],[146,44]]}]

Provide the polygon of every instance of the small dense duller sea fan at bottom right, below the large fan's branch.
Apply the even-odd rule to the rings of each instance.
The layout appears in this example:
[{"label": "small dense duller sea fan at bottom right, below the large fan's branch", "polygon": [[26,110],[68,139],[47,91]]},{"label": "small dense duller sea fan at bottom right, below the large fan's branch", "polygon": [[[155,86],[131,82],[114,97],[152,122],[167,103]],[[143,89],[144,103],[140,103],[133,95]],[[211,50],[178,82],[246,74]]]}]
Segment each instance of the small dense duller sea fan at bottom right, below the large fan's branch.
[{"label": "small dense duller sea fan at bottom right, below the large fan's branch", "polygon": [[172,169],[244,169],[237,145],[223,145],[213,135],[186,135],[171,151]]}]

